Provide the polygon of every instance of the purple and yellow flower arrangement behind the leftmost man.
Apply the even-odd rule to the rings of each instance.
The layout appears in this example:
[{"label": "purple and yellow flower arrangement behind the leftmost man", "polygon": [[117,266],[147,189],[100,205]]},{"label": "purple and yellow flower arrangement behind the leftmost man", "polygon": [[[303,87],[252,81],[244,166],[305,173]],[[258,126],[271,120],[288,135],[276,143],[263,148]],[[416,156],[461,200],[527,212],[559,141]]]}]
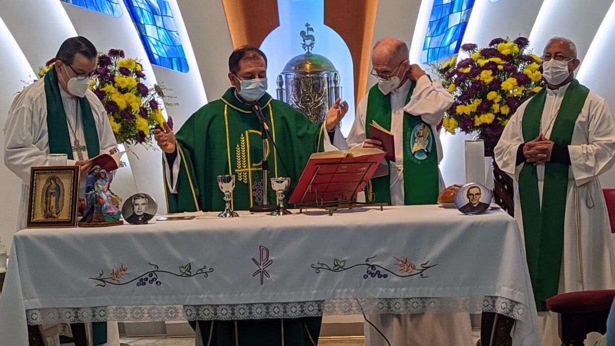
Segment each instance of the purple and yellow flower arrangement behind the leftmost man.
[{"label": "purple and yellow flower arrangement behind the leftmost man", "polygon": [[[39,77],[53,68],[55,59],[39,68]],[[165,121],[162,116],[165,88],[148,87],[143,65],[138,60],[125,58],[121,49],[110,49],[98,55],[98,65],[90,81],[92,90],[105,106],[111,129],[120,144],[143,144],[153,147],[153,132]],[[167,105],[170,103],[167,102]],[[173,119],[166,120],[173,127]]]}]

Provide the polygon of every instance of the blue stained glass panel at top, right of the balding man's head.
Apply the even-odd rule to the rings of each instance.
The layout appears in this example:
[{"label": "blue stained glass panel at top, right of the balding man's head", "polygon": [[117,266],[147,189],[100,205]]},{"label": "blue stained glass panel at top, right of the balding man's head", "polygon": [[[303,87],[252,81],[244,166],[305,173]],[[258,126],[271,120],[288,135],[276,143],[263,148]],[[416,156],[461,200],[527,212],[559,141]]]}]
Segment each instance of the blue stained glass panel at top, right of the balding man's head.
[{"label": "blue stained glass panel at top, right of the balding man's head", "polygon": [[473,5],[474,0],[434,0],[421,63],[432,63],[459,52]]}]

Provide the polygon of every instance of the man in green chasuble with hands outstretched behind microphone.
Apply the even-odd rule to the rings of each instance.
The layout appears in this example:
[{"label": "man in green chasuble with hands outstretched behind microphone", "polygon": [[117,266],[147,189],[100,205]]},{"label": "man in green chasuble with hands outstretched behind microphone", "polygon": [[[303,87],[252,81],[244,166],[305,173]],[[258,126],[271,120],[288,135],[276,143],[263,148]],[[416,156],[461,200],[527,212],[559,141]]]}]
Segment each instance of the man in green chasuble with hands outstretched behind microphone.
[{"label": "man in green chasuble with hands outstretched behind microphone", "polygon": [[[248,210],[263,202],[261,124],[252,111],[258,103],[279,152],[267,143],[269,177],[290,177],[296,184],[309,156],[343,146],[338,124],[348,104],[336,100],[323,124],[265,92],[267,60],[256,47],[244,46],[229,58],[232,87],[192,114],[175,135],[164,124],[156,141],[164,151],[165,189],[171,213],[224,210],[216,176],[235,175],[232,208]],[[275,194],[268,189],[268,200]],[[296,345],[318,342],[320,317],[271,320],[199,321],[205,345]]]}]

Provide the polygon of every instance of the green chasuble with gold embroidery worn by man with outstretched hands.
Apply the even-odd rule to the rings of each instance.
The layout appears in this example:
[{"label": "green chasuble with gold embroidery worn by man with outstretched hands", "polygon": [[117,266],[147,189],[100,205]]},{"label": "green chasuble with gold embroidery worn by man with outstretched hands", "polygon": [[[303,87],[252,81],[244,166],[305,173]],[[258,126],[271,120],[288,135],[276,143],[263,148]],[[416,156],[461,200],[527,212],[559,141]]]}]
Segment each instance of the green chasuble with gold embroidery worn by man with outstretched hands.
[{"label": "green chasuble with gold embroidery worn by man with outstretched hands", "polygon": [[[192,114],[177,132],[180,160],[177,194],[171,194],[165,183],[170,213],[224,210],[218,175],[236,176],[232,193],[234,210],[248,210],[262,201],[261,125],[250,105],[239,101],[234,93],[235,88],[229,88],[220,100]],[[277,153],[268,144],[269,177],[290,177],[292,189],[310,155],[323,150],[323,125],[312,124],[303,113],[273,100],[267,93],[258,103],[280,149]],[[268,200],[275,201],[271,185]],[[320,321],[320,317],[215,320],[200,321],[199,328],[205,345],[308,346],[318,340]]]}]

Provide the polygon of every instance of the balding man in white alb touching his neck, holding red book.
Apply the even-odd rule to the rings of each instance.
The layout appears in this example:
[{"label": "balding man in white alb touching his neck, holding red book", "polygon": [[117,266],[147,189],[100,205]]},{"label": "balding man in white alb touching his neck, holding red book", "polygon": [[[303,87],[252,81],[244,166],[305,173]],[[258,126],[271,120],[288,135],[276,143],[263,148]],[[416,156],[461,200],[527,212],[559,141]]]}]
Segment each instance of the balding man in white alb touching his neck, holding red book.
[{"label": "balding man in white alb touching his neck, holding red book", "polygon": [[[453,96],[418,65],[410,65],[408,46],[400,39],[389,37],[376,43],[371,61],[378,84],[360,101],[347,144],[383,149],[381,142],[369,138],[367,125],[375,121],[394,135],[395,162],[383,162],[389,175],[372,179],[368,199],[390,205],[435,204],[443,189],[437,126],[453,104]],[[370,315],[368,319],[391,345],[472,345],[468,313]],[[367,323],[365,345],[387,345]]]}]

